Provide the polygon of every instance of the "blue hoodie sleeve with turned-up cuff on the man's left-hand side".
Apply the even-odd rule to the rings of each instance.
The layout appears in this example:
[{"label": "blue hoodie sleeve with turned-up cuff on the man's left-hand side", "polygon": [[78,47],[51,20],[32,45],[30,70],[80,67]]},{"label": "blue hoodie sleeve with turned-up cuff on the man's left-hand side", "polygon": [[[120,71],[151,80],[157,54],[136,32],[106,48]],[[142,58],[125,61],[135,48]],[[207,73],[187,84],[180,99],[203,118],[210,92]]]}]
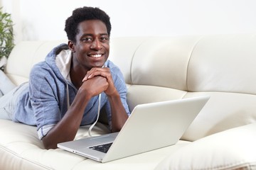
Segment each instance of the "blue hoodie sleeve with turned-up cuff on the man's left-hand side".
[{"label": "blue hoodie sleeve with turned-up cuff on the man's left-hand side", "polygon": [[29,94],[40,139],[61,119],[58,98],[63,93],[56,81],[58,78],[45,62],[36,64],[31,70]]}]

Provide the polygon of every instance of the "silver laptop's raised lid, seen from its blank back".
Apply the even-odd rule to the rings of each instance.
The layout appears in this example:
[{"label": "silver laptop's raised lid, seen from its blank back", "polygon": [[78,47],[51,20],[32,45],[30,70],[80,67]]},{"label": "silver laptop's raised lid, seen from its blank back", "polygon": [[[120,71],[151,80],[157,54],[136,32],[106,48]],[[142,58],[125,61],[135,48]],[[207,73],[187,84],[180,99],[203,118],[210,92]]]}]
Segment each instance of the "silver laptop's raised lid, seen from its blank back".
[{"label": "silver laptop's raised lid, seen from its blank back", "polygon": [[102,162],[176,144],[208,99],[203,96],[136,106]]}]

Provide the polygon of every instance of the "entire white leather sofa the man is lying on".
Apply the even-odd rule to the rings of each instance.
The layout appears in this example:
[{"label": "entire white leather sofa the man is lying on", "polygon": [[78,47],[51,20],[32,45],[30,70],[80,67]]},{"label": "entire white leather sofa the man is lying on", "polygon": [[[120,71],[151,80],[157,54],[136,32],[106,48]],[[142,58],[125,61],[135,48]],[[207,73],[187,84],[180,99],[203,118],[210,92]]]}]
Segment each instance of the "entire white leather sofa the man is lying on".
[{"label": "entire white leather sofa the man is lying on", "polygon": [[[28,81],[33,64],[60,42],[18,43],[6,75],[16,85]],[[105,164],[46,150],[36,127],[0,120],[0,169],[256,169],[254,34],[112,38],[110,60],[124,74],[131,110],[193,96],[210,100],[176,145]],[[87,129],[81,127],[75,139],[86,137]],[[92,131],[108,132],[102,123]]]}]

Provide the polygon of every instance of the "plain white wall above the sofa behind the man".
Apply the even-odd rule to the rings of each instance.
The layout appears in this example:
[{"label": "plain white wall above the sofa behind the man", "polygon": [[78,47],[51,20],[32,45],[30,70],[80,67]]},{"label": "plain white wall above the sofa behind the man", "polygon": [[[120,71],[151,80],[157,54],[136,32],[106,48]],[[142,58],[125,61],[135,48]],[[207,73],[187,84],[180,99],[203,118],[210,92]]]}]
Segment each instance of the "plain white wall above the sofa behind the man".
[{"label": "plain white wall above the sofa behind the man", "polygon": [[256,33],[255,0],[0,0],[12,14],[16,42],[65,39],[73,9],[97,6],[112,22],[112,37]]}]

